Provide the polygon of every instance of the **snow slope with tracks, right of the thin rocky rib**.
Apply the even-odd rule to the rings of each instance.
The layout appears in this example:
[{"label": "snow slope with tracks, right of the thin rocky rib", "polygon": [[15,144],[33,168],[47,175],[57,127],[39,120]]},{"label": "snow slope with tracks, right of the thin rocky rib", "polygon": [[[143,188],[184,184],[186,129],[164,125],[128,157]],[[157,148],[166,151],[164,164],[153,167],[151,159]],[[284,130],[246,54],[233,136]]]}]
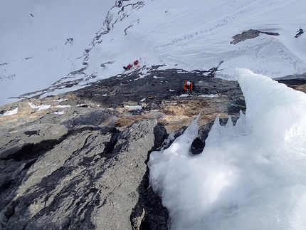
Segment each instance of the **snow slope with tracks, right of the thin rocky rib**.
[{"label": "snow slope with tracks, right of the thin rocky rib", "polygon": [[[222,60],[224,70],[219,73],[227,78],[233,78],[236,67],[272,78],[305,73],[305,38],[295,38],[305,26],[305,9],[302,1],[271,0],[156,0],[131,4],[119,12],[112,9],[107,17],[112,29],[90,52],[87,73],[105,78],[135,58],[142,58],[146,66],[185,70],[207,70]],[[230,44],[232,36],[250,28],[280,36],[261,34]],[[99,63],[107,61],[115,63],[100,68]]]}]

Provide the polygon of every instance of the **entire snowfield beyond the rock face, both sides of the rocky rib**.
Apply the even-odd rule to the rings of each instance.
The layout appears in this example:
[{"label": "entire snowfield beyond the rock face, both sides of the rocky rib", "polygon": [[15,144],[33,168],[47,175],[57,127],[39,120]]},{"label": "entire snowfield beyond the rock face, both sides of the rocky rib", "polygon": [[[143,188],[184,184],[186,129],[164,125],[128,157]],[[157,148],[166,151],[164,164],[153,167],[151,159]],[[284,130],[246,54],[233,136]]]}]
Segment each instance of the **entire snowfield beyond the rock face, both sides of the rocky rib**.
[{"label": "entire snowfield beyond the rock face, both sides of the rocky rib", "polygon": [[[270,78],[306,73],[306,35],[295,38],[306,26],[304,1],[121,2],[119,7],[115,0],[0,1],[0,105],[53,83],[80,80],[45,95],[82,88],[122,73],[136,59],[140,68],[184,70],[208,70],[223,61],[217,76],[231,80],[235,68]],[[249,29],[280,36],[260,34],[230,44]],[[69,75],[84,67],[84,73]]]}]

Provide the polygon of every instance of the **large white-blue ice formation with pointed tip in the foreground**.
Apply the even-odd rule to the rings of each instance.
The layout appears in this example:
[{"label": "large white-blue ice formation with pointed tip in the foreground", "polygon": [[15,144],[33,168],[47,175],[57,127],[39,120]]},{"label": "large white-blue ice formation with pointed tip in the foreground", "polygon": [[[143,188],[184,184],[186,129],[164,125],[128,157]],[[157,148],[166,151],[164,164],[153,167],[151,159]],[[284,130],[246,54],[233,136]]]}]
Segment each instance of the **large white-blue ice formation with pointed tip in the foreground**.
[{"label": "large white-blue ice formation with pointed tip in the foreground", "polygon": [[305,229],[306,95],[236,71],[246,115],[235,126],[217,118],[203,152],[191,156],[196,119],[167,150],[152,152],[150,184],[170,229]]}]

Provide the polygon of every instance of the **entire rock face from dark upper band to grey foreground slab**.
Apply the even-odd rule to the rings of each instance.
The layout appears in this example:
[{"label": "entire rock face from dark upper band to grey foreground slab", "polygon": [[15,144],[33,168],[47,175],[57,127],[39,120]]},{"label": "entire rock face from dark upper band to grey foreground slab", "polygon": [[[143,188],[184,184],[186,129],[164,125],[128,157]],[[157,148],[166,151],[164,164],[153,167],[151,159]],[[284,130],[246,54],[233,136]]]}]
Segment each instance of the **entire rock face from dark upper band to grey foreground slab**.
[{"label": "entire rock face from dark upper band to grey foreground slab", "polygon": [[[238,83],[212,78],[216,70],[142,68],[2,106],[2,115],[18,113],[0,117],[0,228],[167,229],[149,188],[150,152],[201,113],[191,150],[199,154],[217,116],[235,123],[246,110]],[[181,97],[185,80],[196,90]]]}]

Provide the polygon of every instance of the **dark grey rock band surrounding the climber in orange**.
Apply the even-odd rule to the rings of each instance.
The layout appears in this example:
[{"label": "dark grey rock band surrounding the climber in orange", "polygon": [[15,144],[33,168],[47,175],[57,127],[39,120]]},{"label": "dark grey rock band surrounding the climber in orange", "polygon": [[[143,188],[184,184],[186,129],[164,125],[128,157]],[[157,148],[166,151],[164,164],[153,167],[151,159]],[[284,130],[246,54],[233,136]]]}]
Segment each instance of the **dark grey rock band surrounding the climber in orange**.
[{"label": "dark grey rock band surrounding the climber in orange", "polygon": [[[221,62],[222,63],[222,62]],[[221,63],[219,65],[221,65]],[[140,105],[144,100],[147,104],[144,110],[158,109],[163,100],[176,98],[183,94],[185,80],[196,84],[195,95],[226,95],[237,100],[241,97],[241,89],[236,81],[212,78],[218,67],[210,70],[194,70],[186,72],[178,69],[157,70],[152,68],[145,77],[141,70],[100,80],[94,85],[78,90],[75,95],[82,100],[88,99],[100,103],[104,107],[117,108],[118,106],[134,103]],[[196,98],[193,98],[196,100]]]}]

